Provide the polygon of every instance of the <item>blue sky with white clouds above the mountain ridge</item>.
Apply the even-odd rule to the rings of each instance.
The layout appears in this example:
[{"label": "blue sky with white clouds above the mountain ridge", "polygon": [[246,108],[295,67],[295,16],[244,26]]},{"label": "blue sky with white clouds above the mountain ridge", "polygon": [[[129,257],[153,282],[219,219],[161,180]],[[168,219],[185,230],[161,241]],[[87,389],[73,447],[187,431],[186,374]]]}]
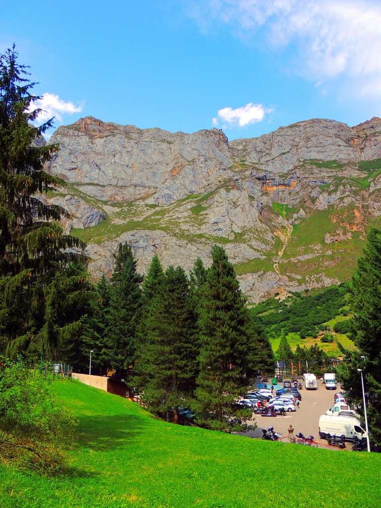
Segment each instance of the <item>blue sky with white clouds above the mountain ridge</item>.
[{"label": "blue sky with white clouds above the mountain ridge", "polygon": [[[55,126],[103,121],[255,137],[381,115],[379,0],[0,0]],[[43,118],[42,118],[43,119]]]}]

